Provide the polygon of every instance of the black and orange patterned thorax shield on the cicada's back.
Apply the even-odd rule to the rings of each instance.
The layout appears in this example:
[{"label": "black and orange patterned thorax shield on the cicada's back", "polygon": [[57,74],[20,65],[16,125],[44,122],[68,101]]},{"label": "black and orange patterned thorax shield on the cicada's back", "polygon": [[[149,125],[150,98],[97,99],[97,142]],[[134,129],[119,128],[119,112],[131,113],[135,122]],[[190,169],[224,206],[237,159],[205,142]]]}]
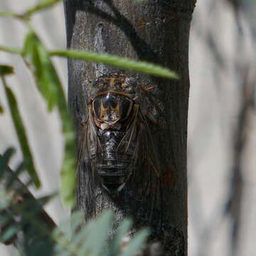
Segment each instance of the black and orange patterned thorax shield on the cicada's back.
[{"label": "black and orange patterned thorax shield on the cicada's back", "polygon": [[109,92],[95,97],[92,102],[92,109],[97,119],[108,124],[114,124],[129,117],[132,105],[133,101],[129,97]]}]

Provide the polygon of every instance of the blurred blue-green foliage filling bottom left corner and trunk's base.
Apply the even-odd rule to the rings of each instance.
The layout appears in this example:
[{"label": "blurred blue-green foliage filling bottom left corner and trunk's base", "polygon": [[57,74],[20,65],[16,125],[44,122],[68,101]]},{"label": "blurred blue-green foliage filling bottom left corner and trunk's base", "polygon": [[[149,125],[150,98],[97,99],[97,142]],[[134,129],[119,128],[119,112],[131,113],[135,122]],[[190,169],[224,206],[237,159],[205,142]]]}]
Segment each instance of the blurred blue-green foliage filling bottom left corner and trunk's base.
[{"label": "blurred blue-green foliage filling bottom left corner and trunk's base", "polygon": [[[24,171],[21,165],[16,171],[9,169],[8,163],[14,149],[8,149],[0,156],[0,241],[14,243],[22,255],[135,255],[149,235],[147,229],[134,235],[122,249],[122,238],[132,226],[131,220],[124,220],[116,235],[109,238],[113,215],[105,211],[96,220],[84,224],[81,213],[73,213],[60,228],[53,223],[43,206],[53,195],[36,199],[18,179]],[[65,227],[72,223],[68,232]],[[107,245],[107,246],[106,246]]]}]

